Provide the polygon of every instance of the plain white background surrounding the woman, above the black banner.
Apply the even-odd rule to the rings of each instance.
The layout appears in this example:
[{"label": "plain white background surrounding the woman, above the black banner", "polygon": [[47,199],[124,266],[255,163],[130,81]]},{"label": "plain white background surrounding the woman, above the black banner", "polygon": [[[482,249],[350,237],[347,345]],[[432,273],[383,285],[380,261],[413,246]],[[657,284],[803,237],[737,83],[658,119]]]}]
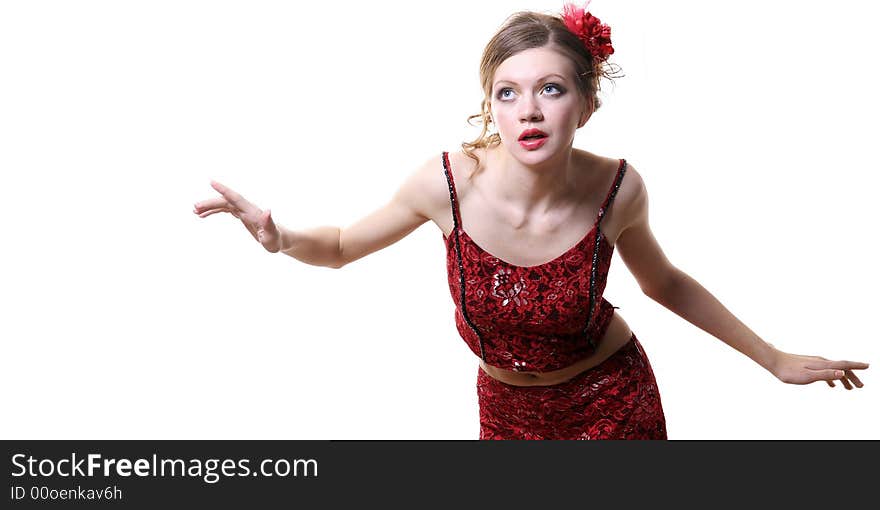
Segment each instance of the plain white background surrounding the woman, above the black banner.
[{"label": "plain white background surrounding the woman, above the black banner", "polygon": [[[341,270],[193,203],[345,226],[477,128],[483,47],[562,2],[0,4],[3,438],[474,439],[477,358],[426,223]],[[877,362],[880,43],[864,2],[609,1],[626,75],[575,146],[644,177],[670,260],[777,347]],[[442,172],[442,168],[437,169]],[[865,387],[786,385],[605,296],[670,439],[877,439]]]}]

